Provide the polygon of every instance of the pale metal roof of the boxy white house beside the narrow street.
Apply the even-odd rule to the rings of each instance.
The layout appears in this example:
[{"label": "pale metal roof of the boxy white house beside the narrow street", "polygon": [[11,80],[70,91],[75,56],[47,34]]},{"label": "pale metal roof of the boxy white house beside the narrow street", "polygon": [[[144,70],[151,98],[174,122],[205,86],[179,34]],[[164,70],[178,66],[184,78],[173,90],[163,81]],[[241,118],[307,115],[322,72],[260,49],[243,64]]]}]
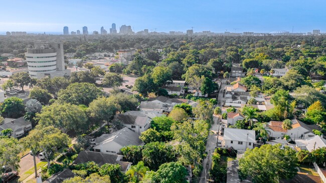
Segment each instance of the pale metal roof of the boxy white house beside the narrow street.
[{"label": "pale metal roof of the boxy white house beside the narrow street", "polygon": [[225,140],[235,140],[235,141],[245,141],[245,142],[255,142],[256,134],[255,134],[255,130],[226,127],[226,128],[224,128],[224,139]]}]

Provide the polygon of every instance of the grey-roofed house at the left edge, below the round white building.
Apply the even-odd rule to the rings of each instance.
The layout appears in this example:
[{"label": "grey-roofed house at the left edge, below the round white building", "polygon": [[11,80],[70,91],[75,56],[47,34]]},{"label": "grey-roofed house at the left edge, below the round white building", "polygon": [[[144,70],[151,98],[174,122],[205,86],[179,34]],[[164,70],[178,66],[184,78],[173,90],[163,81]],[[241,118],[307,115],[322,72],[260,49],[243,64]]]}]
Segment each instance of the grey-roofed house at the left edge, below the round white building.
[{"label": "grey-roofed house at the left edge, below the round white building", "polygon": [[17,119],[14,118],[5,118],[2,124],[0,124],[0,131],[11,128],[13,137],[23,136],[27,131],[32,129],[32,123],[26,121],[24,117]]}]

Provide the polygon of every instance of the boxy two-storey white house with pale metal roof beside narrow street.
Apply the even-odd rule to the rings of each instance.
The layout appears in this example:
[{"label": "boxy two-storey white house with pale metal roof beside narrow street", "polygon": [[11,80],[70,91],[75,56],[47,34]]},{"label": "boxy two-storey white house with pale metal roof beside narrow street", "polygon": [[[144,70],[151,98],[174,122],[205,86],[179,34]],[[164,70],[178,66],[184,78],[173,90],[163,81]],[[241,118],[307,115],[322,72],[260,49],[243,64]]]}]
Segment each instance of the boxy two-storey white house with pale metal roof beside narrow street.
[{"label": "boxy two-storey white house with pale metal roof beside narrow street", "polygon": [[255,130],[224,128],[225,147],[233,147],[236,150],[253,148],[256,142]]}]

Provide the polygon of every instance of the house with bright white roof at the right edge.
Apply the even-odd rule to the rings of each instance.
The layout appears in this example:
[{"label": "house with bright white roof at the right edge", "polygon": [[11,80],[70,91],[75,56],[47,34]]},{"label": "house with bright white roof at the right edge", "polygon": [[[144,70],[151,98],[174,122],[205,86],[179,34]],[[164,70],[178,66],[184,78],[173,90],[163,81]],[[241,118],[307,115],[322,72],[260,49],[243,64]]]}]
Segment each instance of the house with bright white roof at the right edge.
[{"label": "house with bright white roof at the right edge", "polygon": [[295,145],[299,147],[301,150],[308,150],[309,152],[326,147],[326,139],[320,137],[318,135],[314,135],[312,137],[306,139],[294,139]]}]

